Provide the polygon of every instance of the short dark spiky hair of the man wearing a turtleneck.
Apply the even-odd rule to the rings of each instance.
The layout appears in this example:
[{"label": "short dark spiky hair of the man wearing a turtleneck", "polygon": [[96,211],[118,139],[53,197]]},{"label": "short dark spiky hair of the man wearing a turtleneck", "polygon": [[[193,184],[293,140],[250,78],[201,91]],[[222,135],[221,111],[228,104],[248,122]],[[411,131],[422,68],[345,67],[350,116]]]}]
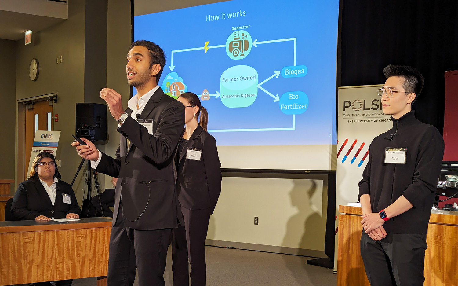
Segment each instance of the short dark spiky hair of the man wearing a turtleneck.
[{"label": "short dark spiky hair of the man wearing a turtleneck", "polygon": [[425,79],[421,75],[420,71],[411,66],[395,66],[388,65],[383,69],[385,77],[403,77],[403,88],[406,92],[415,93],[415,99],[418,98],[423,85],[425,85]]}]

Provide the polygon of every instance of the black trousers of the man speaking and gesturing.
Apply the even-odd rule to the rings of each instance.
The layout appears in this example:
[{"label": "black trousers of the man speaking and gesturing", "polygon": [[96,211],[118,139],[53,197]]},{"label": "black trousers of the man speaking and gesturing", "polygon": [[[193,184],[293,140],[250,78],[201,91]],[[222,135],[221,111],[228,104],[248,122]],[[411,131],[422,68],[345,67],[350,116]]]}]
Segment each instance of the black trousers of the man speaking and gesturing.
[{"label": "black trousers of the man speaking and gesturing", "polygon": [[111,228],[107,285],[132,286],[137,268],[139,286],[164,286],[171,234],[169,228],[138,231],[118,221]]}]

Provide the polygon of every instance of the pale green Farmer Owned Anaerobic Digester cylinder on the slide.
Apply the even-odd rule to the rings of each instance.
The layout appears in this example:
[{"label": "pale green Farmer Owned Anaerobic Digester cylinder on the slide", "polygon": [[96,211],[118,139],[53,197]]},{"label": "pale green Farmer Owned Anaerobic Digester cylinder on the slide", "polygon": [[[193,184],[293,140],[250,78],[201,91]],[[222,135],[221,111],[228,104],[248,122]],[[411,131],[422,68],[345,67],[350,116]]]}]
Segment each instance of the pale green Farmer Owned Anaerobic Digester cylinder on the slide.
[{"label": "pale green Farmer Owned Anaerobic Digester cylinder on the slide", "polygon": [[257,71],[251,66],[231,66],[221,75],[221,101],[227,107],[247,107],[257,97]]}]

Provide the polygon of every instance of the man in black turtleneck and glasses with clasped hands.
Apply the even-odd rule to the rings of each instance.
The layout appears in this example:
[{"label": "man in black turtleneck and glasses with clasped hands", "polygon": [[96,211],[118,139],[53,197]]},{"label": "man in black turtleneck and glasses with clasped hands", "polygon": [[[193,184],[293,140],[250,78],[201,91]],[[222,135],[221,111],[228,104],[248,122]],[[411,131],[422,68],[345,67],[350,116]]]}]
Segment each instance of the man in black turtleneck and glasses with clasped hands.
[{"label": "man in black turtleneck and glasses with clasped hands", "polygon": [[393,128],[372,141],[359,183],[361,257],[371,286],[423,285],[426,233],[444,142],[411,110],[424,84],[420,72],[389,65],[383,73],[387,81],[379,95]]}]

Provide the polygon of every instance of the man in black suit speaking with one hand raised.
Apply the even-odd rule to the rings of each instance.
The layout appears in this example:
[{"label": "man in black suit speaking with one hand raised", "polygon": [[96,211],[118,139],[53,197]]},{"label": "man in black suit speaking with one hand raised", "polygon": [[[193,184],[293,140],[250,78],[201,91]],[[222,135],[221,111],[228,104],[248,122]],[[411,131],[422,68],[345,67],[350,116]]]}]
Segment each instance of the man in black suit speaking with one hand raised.
[{"label": "man in black suit speaking with one hand raised", "polygon": [[129,85],[137,94],[124,110],[121,95],[100,91],[118,123],[119,154],[115,159],[93,143],[76,146],[92,167],[119,180],[115,189],[109,245],[108,285],[130,286],[138,268],[140,286],[165,285],[164,270],[172,228],[178,224],[173,161],[185,125],[185,108],[157,85],[165,66],[164,51],[148,41],[136,41],[127,55]]}]

